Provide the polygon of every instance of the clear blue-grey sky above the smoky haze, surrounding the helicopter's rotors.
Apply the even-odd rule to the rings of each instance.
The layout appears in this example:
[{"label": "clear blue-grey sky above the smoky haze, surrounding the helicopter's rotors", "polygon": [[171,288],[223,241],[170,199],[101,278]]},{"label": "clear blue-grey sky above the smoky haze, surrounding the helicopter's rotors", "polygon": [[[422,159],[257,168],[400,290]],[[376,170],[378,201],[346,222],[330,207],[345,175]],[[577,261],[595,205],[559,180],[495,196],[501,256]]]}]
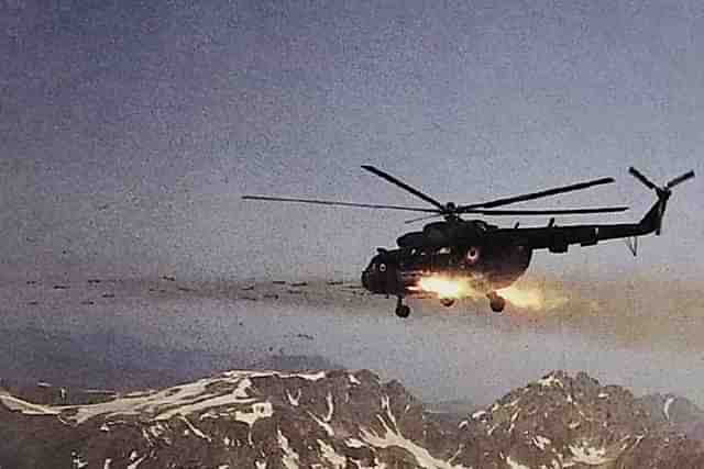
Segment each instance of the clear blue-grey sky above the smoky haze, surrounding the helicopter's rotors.
[{"label": "clear blue-grey sky above the smoky haze, surrounding the helicopter's rotors", "polygon": [[[653,194],[630,165],[661,182],[702,174],[696,1],[0,9],[6,276],[358,278],[406,214],[241,196],[422,204],[361,164],[459,203],[613,176],[526,204],[632,208],[592,222],[645,213]],[[676,189],[642,258],[612,242],[535,268],[696,277],[703,196],[698,179]]]}]

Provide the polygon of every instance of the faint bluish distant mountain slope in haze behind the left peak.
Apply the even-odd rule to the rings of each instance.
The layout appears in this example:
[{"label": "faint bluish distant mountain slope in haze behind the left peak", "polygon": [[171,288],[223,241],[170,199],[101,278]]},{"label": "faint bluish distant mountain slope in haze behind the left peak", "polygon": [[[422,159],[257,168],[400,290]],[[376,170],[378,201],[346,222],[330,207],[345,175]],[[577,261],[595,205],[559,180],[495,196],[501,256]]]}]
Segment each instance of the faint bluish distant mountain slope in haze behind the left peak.
[{"label": "faint bluish distant mountain slope in haze behind the left peak", "polygon": [[157,347],[113,332],[0,327],[0,378],[22,384],[42,380],[65,387],[152,388],[213,369],[242,368],[249,358]]}]

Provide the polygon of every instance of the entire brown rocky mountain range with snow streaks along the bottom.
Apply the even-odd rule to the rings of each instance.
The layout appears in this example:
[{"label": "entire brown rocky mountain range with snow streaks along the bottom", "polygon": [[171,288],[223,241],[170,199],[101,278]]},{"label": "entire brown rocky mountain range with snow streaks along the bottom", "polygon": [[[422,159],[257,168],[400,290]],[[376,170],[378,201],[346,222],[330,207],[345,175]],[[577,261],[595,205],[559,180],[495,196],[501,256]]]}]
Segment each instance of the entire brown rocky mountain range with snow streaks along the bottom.
[{"label": "entire brown rocky mountain range with snow streaks along the bottom", "polygon": [[[94,405],[0,393],[0,467],[701,468],[701,440],[680,428],[701,411],[681,401],[563,372],[459,425],[364,370],[230,371]],[[673,422],[679,407],[689,417]]]}]

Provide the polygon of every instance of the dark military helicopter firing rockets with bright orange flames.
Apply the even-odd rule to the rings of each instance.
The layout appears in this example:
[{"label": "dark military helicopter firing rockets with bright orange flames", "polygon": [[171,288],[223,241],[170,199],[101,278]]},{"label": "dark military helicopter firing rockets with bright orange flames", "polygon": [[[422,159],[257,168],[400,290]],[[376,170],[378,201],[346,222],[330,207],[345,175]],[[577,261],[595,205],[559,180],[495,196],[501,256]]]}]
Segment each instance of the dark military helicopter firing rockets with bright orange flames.
[{"label": "dark military helicopter firing rockets with bright orange flames", "polygon": [[362,272],[362,284],[366,290],[397,298],[396,315],[399,317],[408,317],[410,314],[410,308],[404,304],[406,297],[436,294],[442,305],[451,306],[458,298],[462,297],[459,284],[468,287],[474,293],[486,295],[492,311],[502,312],[506,300],[497,291],[509,287],[526,271],[535,249],[566,253],[571,244],[593,246],[606,239],[632,238],[629,247],[631,253],[636,255],[638,236],[650,233],[660,235],[662,216],[671,189],[694,177],[694,171],[691,170],[660,187],[630,167],[629,172],[657,194],[657,200],[651,209],[637,223],[559,226],[554,223],[554,217],[551,217],[546,226],[519,227],[519,224],[516,223],[513,227],[499,227],[483,220],[463,220],[460,215],[572,215],[623,212],[628,208],[496,209],[517,202],[610,183],[614,182],[613,178],[600,178],[538,192],[458,205],[453,202],[441,203],[374,166],[363,165],[362,168],[410,192],[428,202],[432,208],[265,196],[244,196],[243,199],[426,213],[425,216],[408,220],[406,223],[443,217],[443,221],[426,224],[422,231],[406,233],[398,237],[396,241],[398,247],[395,249],[378,248],[377,254]]}]

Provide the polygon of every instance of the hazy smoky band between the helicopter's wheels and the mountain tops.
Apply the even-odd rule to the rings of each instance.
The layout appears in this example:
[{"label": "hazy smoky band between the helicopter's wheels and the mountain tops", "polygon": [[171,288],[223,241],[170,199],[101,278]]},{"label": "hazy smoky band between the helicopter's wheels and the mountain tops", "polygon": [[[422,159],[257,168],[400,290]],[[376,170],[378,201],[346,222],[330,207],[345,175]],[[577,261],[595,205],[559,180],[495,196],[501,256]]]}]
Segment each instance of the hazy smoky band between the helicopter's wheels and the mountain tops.
[{"label": "hazy smoky band between the helicopter's wheels and the mountain tops", "polygon": [[[26,355],[16,364],[42,364],[47,359],[42,356],[53,350],[50,355],[64,354],[66,360],[40,368],[61,365],[65,376],[86,383],[92,370],[96,386],[120,380],[120,369],[135,382],[158,383],[252,366],[275,355],[319,356],[399,379],[427,401],[468,399],[485,405],[562,369],[586,371],[636,393],[673,392],[704,405],[697,376],[704,353],[701,302],[688,311],[664,308],[661,314],[648,314],[613,309],[609,300],[595,303],[593,291],[548,284],[547,299],[571,298],[551,310],[509,305],[503,315],[491,313],[484,302],[461,301],[444,309],[433,300],[411,300],[414,313],[400,320],[393,313],[393,299],[360,297],[344,286],[292,288],[267,281],[250,290],[249,282],[178,279],[74,279],[64,283],[66,290],[54,284],[38,280],[2,288],[8,306],[0,326],[15,331],[8,345],[25,342],[16,334],[25,327],[35,331],[32,337],[57,337],[37,342],[34,350],[20,347]],[[106,292],[112,297],[103,298]],[[656,297],[641,301],[662,306],[652,304]],[[81,349],[92,351],[76,351]],[[12,360],[13,355],[6,357]]]}]

